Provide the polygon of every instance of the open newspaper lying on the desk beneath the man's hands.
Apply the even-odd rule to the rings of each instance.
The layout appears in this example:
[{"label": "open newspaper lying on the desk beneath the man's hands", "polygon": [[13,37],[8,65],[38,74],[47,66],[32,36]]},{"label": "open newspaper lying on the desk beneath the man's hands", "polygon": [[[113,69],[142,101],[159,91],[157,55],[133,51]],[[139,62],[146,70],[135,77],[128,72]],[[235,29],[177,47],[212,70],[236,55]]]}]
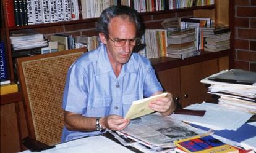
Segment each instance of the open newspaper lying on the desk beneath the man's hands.
[{"label": "open newspaper lying on the desk beneath the man's hands", "polygon": [[175,147],[173,142],[177,139],[203,135],[205,131],[155,113],[131,120],[124,130],[117,131],[117,133],[151,148],[164,148]]}]

